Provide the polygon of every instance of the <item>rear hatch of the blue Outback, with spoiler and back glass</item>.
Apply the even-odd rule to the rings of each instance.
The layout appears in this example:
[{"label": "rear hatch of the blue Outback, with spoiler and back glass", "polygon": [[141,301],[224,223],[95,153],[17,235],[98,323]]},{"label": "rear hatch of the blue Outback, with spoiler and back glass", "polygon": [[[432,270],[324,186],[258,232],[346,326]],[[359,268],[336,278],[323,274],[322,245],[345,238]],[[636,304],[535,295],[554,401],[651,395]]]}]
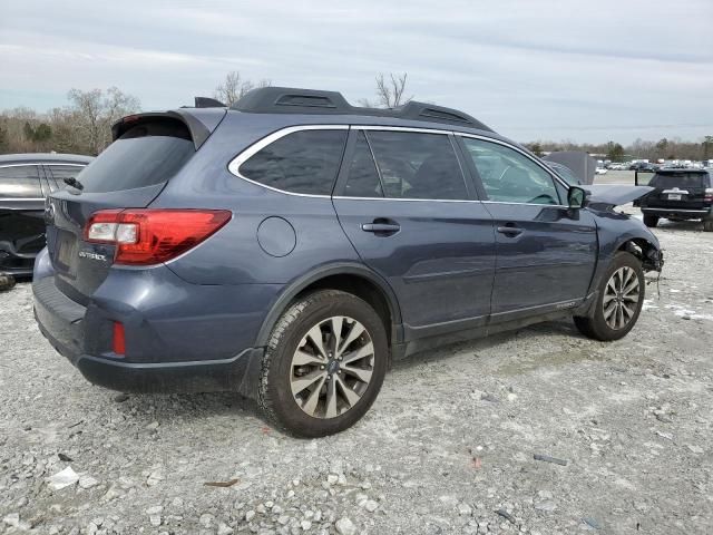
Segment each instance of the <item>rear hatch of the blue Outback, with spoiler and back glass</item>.
[{"label": "rear hatch of the blue Outback, with spoiler and back glass", "polygon": [[114,263],[115,245],[85,240],[87,220],[100,210],[148,206],[224,114],[217,109],[140,114],[114,126],[114,143],[77,176],[79,184],[48,200],[47,246],[61,292],[86,304]]}]

